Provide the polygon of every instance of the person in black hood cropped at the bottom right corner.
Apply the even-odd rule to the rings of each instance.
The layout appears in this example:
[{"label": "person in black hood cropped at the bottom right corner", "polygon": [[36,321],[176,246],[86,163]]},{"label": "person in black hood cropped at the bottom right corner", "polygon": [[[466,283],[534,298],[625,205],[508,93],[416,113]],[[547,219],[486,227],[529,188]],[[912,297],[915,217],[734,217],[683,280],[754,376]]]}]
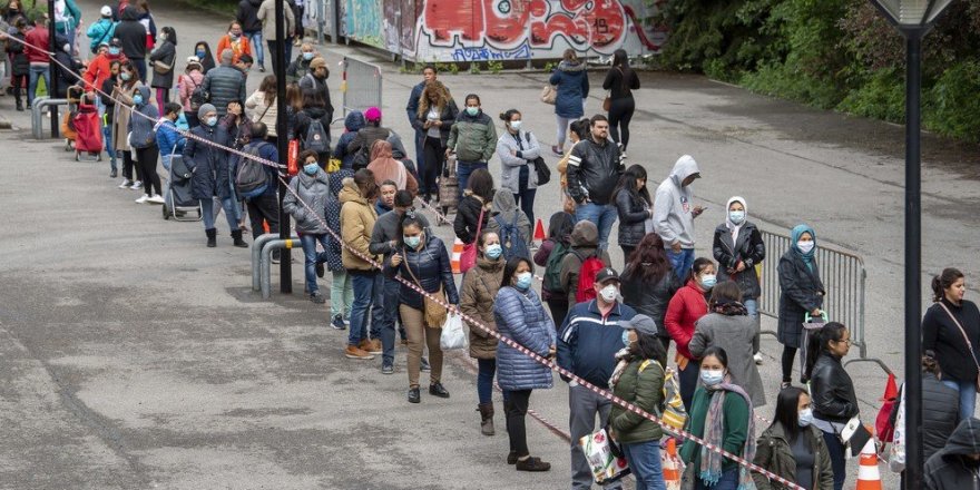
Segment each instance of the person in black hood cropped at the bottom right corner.
[{"label": "person in black hood cropped at the bottom right corner", "polygon": [[929,490],[977,488],[980,474],[980,420],[967,419],[957,427],[945,447],[929,458],[923,481]]}]

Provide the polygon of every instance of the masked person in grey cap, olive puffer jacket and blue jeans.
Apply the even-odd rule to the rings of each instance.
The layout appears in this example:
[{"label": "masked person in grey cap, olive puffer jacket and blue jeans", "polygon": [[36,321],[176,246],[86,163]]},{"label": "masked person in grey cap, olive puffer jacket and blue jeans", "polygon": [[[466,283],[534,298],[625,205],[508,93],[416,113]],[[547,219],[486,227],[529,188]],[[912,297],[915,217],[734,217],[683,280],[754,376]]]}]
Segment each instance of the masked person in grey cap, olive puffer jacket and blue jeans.
[{"label": "masked person in grey cap, olive puffer jacket and blue jeans", "polygon": [[[667,351],[657,337],[657,325],[647,315],[623,322],[623,350],[609,385],[612,393],[647,413],[658,413],[664,403],[664,365]],[[609,413],[610,438],[623,444],[637,490],[667,490],[660,467],[660,438],[664,430],[656,422],[612,405]]]}]

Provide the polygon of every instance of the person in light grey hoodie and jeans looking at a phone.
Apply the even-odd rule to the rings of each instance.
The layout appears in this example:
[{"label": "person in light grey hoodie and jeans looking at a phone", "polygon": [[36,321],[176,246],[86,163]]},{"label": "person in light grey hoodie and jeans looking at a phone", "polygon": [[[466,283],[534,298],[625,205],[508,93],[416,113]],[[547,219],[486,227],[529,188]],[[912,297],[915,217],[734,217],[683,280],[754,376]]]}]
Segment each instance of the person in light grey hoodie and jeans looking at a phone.
[{"label": "person in light grey hoodie and jeans looking at a phone", "polygon": [[682,281],[694,264],[694,218],[704,212],[692,206],[690,184],[700,178],[697,161],[684,155],[674,164],[670,176],[657,187],[654,198],[654,231],[667,247],[667,258]]}]

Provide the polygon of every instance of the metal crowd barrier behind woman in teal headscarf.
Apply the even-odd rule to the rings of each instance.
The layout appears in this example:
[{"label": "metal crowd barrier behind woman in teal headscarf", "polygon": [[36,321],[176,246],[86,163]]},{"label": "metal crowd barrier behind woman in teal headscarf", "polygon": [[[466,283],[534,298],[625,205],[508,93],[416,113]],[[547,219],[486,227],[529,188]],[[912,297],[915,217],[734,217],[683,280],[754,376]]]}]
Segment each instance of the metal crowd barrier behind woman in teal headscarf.
[{"label": "metal crowd barrier behind woman in teal headscarf", "polygon": [[[758,298],[759,313],[780,317],[780,257],[790,249],[792,239],[786,235],[772,232],[762,232],[762,239],[766,247],[766,259],[762,263],[759,283],[762,296]],[[864,331],[864,285],[868,273],[864,270],[864,259],[849,252],[834,247],[816,247],[816,264],[820,270],[820,278],[823,281],[826,296],[823,308],[826,310],[830,320],[841,322],[851,330],[851,342],[859,350],[861,359],[852,362],[873,362],[886,373],[892,370],[876,357],[868,356],[868,342]],[[776,335],[773,331],[763,331],[765,334]]]}]

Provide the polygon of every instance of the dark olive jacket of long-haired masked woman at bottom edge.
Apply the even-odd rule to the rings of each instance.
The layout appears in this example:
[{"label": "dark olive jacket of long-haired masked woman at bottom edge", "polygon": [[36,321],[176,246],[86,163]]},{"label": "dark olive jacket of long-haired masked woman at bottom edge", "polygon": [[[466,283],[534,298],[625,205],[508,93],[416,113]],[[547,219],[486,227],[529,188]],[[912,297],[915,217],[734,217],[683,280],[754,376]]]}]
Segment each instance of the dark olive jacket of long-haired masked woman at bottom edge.
[{"label": "dark olive jacket of long-haired masked woman at bottom edge", "polygon": [[[813,490],[833,490],[834,489],[834,469],[831,465],[831,455],[826,449],[826,442],[823,439],[823,432],[820,429],[810,425],[802,429],[800,437],[806,438],[810,448],[813,450],[813,480],[808,488]],[[757,467],[764,468],[770,472],[776,473],[781,478],[790,481],[796,481],[796,459],[793,457],[793,448],[786,438],[786,430],[783,424],[775,422],[770,425],[762,435],[758,437],[756,443],[755,460]],[[752,472],[757,490],[785,490],[786,487],[777,481],[770,481],[766,476]]]}]

